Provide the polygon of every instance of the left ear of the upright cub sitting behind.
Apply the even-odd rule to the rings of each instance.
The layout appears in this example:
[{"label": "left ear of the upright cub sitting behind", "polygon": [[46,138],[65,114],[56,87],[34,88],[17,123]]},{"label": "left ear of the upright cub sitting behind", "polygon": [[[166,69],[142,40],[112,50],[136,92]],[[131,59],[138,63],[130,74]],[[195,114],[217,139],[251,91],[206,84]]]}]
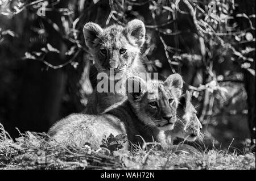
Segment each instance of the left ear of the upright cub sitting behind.
[{"label": "left ear of the upright cub sitting behind", "polygon": [[84,29],[85,44],[89,48],[93,48],[94,40],[103,32],[102,28],[96,23],[86,23]]}]

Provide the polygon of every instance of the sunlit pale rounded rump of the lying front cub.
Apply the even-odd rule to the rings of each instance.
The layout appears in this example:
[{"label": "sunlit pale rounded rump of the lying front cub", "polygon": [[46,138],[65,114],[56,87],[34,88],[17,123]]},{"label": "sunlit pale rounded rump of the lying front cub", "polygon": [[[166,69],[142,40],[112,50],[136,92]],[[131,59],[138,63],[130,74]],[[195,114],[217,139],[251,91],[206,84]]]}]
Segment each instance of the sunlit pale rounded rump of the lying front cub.
[{"label": "sunlit pale rounded rump of the lying front cub", "polygon": [[126,134],[126,129],[125,124],[113,115],[96,116],[78,113],[60,120],[49,129],[48,133],[64,145],[82,147],[88,142],[93,149],[98,149],[102,138],[110,134],[114,136]]}]

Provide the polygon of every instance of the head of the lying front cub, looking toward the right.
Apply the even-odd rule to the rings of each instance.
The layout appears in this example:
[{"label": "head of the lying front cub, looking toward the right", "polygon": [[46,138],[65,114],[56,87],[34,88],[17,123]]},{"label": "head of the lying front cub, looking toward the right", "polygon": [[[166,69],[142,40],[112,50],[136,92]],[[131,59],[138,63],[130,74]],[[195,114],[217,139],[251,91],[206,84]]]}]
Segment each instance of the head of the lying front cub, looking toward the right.
[{"label": "head of the lying front cub, looking toward the right", "polygon": [[181,76],[172,74],[164,82],[151,80],[138,83],[133,79],[132,83],[134,89],[129,91],[133,85],[127,79],[127,96],[139,119],[148,127],[157,127],[163,131],[173,129],[183,87]]}]

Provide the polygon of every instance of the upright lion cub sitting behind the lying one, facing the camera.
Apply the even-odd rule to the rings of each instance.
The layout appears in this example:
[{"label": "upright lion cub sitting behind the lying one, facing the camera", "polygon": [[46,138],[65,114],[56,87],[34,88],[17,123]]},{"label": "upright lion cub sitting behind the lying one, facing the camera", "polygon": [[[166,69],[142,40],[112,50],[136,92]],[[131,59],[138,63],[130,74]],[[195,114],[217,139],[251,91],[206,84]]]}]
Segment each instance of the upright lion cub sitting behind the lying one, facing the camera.
[{"label": "upright lion cub sitting behind the lying one, facing the camera", "polygon": [[[85,44],[98,71],[98,85],[104,75],[108,77],[106,82],[108,85],[110,81],[114,81],[114,85],[110,87],[104,85],[106,91],[94,89],[83,111],[87,114],[98,114],[126,98],[125,81],[128,77],[146,73],[140,60],[146,29],[141,20],[134,19],[125,27],[113,24],[101,28],[96,23],[86,23],[83,33]],[[117,84],[119,88],[110,91]]]}]

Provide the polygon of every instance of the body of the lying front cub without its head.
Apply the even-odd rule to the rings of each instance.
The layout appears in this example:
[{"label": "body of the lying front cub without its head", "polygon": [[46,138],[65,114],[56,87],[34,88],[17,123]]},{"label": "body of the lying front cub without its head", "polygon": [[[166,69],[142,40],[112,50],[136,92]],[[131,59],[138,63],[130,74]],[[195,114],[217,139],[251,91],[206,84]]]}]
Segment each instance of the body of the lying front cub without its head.
[{"label": "body of the lying front cub without its head", "polygon": [[[141,138],[135,136],[140,135],[150,142],[152,136],[158,134],[158,130],[144,129],[127,101],[101,115],[69,115],[49,130],[49,135],[57,142],[80,147],[88,142],[94,150],[100,148],[102,138],[110,134],[127,134],[128,140],[133,143],[141,142]],[[124,149],[129,149],[128,146],[126,142]]]}]

